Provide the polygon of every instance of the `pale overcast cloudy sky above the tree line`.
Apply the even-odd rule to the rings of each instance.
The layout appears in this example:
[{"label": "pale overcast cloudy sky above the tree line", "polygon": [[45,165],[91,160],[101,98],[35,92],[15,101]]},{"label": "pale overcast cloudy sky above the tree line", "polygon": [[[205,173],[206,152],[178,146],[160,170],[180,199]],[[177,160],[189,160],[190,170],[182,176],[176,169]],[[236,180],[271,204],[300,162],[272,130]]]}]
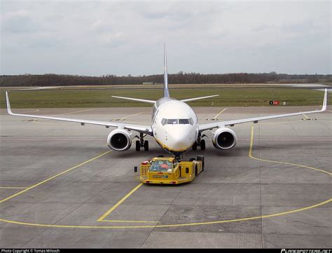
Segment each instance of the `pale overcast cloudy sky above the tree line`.
[{"label": "pale overcast cloudy sky above the tree line", "polygon": [[1,0],[1,74],[331,74],[331,1]]}]

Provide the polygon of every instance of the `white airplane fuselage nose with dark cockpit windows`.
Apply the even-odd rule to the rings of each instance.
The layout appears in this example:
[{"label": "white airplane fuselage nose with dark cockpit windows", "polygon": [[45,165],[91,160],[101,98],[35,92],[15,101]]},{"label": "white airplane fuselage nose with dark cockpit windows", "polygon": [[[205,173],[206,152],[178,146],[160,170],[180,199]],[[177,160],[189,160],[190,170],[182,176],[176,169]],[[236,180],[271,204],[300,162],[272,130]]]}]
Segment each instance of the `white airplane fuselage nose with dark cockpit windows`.
[{"label": "white airplane fuselage nose with dark cockpit windows", "polygon": [[170,153],[184,153],[198,139],[198,118],[188,104],[171,98],[155,102],[152,130],[156,142]]}]

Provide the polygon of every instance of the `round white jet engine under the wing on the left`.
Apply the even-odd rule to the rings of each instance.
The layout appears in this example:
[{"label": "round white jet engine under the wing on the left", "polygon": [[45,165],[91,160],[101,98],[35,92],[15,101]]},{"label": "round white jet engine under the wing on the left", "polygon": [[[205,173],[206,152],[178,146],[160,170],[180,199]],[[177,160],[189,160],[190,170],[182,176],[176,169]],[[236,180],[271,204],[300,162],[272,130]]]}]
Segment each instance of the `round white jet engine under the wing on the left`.
[{"label": "round white jet engine under the wing on the left", "polygon": [[125,151],[132,146],[131,133],[124,129],[116,129],[109,133],[107,144],[110,149]]}]

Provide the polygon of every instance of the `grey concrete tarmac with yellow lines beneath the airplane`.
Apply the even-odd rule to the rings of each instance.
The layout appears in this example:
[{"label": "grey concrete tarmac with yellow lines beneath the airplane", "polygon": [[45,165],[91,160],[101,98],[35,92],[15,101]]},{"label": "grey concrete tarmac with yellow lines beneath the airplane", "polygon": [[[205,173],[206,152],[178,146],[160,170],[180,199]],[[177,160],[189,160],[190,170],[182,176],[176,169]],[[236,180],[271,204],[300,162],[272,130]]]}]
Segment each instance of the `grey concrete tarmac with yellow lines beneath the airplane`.
[{"label": "grey concrete tarmac with yellow lines beneath the airplane", "polygon": [[[208,122],[312,107],[194,109]],[[207,138],[205,151],[186,153],[204,155],[205,171],[179,186],[135,179],[135,165],[167,155],[152,137],[148,152],[117,152],[111,128],[0,112],[1,247],[332,247],[331,111],[235,125],[228,151]],[[151,122],[145,107],[33,114]]]}]

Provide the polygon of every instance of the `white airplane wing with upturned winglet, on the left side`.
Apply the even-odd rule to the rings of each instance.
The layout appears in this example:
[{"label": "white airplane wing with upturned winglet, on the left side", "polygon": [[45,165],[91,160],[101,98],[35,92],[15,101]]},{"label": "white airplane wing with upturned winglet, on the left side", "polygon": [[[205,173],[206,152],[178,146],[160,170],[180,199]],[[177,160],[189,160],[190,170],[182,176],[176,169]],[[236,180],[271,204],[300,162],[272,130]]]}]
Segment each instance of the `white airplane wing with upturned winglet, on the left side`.
[{"label": "white airplane wing with upturned winglet, on the left side", "polygon": [[76,122],[81,123],[81,125],[85,124],[92,124],[92,125],[104,125],[106,128],[113,127],[113,128],[123,128],[127,130],[134,130],[137,132],[144,132],[147,135],[152,135],[152,128],[150,125],[134,125],[134,124],[127,124],[127,123],[118,123],[118,122],[108,122],[108,121],[89,121],[85,119],[76,119],[76,118],[62,118],[62,117],[53,117],[53,116],[40,116],[40,115],[32,115],[32,114],[14,114],[11,111],[11,104],[9,102],[8,92],[6,91],[6,102],[7,102],[7,111],[8,114],[13,116],[23,116],[23,117],[30,117],[30,118],[43,118],[43,119],[50,119],[55,121],[69,121],[69,122]]}]

